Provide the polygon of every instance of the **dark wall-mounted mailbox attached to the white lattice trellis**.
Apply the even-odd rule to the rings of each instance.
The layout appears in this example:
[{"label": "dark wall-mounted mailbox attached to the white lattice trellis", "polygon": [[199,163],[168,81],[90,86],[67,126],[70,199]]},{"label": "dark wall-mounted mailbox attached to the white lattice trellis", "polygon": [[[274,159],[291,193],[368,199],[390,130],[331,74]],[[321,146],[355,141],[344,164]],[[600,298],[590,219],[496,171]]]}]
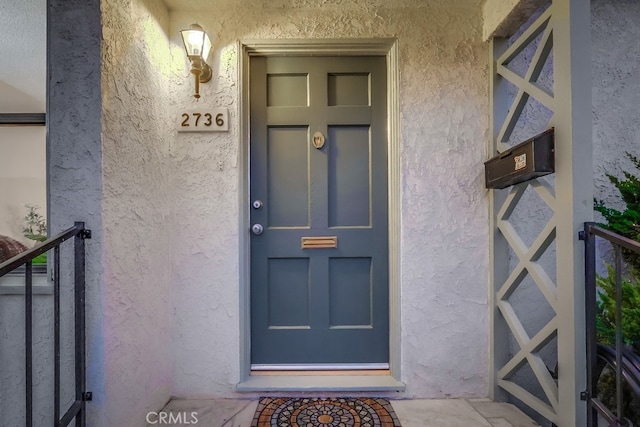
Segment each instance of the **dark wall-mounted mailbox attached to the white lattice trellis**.
[{"label": "dark wall-mounted mailbox attached to the white lattice trellis", "polygon": [[553,128],[484,163],[484,179],[487,188],[505,188],[553,172],[555,172]]}]

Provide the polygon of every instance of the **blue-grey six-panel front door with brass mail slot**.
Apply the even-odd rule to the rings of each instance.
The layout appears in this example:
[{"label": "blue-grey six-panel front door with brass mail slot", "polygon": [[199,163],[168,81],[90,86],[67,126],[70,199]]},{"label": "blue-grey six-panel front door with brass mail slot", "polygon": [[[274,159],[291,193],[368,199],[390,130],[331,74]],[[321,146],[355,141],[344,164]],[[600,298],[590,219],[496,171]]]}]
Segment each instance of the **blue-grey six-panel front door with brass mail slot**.
[{"label": "blue-grey six-panel front door with brass mail slot", "polygon": [[252,367],[388,366],[385,57],[250,75]]}]

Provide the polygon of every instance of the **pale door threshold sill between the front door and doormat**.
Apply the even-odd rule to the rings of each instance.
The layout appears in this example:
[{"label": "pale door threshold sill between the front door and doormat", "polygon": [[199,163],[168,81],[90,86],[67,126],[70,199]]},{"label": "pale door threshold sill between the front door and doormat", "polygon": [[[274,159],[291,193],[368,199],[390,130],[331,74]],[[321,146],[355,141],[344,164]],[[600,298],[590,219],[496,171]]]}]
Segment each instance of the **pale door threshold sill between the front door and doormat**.
[{"label": "pale door threshold sill between the front door and doormat", "polygon": [[283,372],[278,375],[252,373],[236,386],[238,392],[284,392],[284,391],[335,391],[335,392],[372,392],[404,391],[405,384],[391,376],[387,371],[381,375],[367,375],[364,371],[340,372],[323,371],[311,375],[311,371]]}]

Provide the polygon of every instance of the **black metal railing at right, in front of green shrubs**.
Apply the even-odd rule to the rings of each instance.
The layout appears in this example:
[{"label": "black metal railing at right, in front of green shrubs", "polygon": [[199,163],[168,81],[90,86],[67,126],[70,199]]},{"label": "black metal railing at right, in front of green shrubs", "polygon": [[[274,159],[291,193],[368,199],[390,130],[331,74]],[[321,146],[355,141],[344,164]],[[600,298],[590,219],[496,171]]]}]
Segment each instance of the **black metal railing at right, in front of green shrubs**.
[{"label": "black metal railing at right, in front of green shrubs", "polygon": [[[580,237],[585,242],[587,324],[587,390],[582,393],[582,398],[587,401],[588,426],[602,425],[600,421],[608,426],[638,426],[640,420],[634,419],[637,418],[637,414],[634,413],[635,408],[632,405],[637,406],[640,402],[640,356],[636,350],[624,343],[622,258],[623,253],[640,254],[640,243],[592,222],[585,223]],[[598,342],[597,322],[602,322],[602,319],[598,319],[602,313],[598,309],[600,297],[597,290],[596,238],[608,241],[614,253],[615,295],[608,296],[615,299],[613,343]]]}]

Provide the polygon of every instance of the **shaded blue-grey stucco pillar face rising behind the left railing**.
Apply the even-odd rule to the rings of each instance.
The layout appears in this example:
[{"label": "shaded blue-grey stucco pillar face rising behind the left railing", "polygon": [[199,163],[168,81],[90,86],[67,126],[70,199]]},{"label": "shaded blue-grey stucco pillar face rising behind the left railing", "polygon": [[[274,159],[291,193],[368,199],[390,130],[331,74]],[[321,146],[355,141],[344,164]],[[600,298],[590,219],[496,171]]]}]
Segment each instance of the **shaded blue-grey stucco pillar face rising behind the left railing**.
[{"label": "shaded blue-grey stucco pillar face rising behind the left railing", "polygon": [[[87,389],[94,393],[94,402],[88,405],[88,410],[94,414],[100,413],[106,406],[104,378],[107,371],[104,367],[102,325],[100,1],[49,1],[47,39],[50,68],[47,81],[49,230],[58,233],[73,225],[74,221],[84,221],[85,226],[93,232],[92,239],[86,241],[86,326]],[[63,252],[66,255],[60,270],[67,289],[73,271],[71,258],[68,257],[70,247],[67,246]],[[72,314],[68,294],[62,301],[65,316]],[[68,346],[73,348],[73,341],[65,340],[63,348]],[[53,366],[51,360],[52,356],[49,369]],[[66,364],[63,372],[68,372],[68,368]],[[67,402],[69,389],[65,390],[67,394],[63,401]],[[50,396],[51,392],[48,394]],[[101,424],[96,422],[93,425]]]}]

